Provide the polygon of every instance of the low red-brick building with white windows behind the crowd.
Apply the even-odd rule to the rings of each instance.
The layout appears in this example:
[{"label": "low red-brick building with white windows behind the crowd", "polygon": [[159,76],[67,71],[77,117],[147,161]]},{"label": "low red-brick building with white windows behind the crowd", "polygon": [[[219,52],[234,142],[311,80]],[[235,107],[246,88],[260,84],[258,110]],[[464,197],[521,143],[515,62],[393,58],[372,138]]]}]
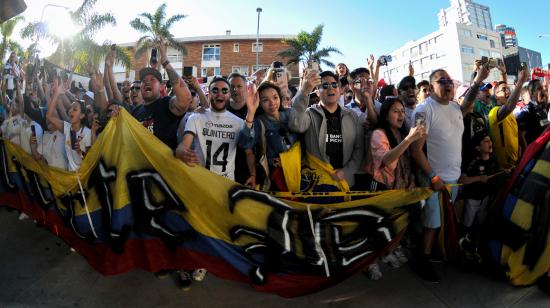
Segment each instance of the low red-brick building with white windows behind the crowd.
[{"label": "low red-brick building with white windows behind the crowd", "polygon": [[[177,38],[187,48],[187,55],[182,55],[173,48],[168,48],[168,60],[172,66],[183,74],[184,67],[190,67],[195,77],[210,77],[216,75],[227,76],[232,72],[243,75],[251,75],[257,69],[267,68],[273,61],[286,63],[285,59],[277,54],[288,48],[282,42],[283,39],[294,38],[292,35],[260,35],[256,46],[256,35],[226,35],[199,36]],[[135,42],[119,44],[128,48],[134,48]],[[258,50],[258,66],[256,66],[256,50]],[[130,72],[124,67],[116,65],[113,69],[117,82],[125,79],[136,79],[136,73],[148,66],[151,51],[149,50],[141,58],[134,59]],[[292,76],[298,76],[298,66],[287,67]],[[164,71],[161,68],[161,73]],[[164,76],[164,75],[163,75]]]}]

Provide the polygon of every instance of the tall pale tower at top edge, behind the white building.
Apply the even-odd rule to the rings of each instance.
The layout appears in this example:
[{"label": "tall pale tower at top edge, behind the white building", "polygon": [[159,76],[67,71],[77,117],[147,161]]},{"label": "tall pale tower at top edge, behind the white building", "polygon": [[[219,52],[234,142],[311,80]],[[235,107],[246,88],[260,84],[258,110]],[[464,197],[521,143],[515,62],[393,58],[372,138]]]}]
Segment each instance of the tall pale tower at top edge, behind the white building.
[{"label": "tall pale tower at top edge, behind the white building", "polygon": [[459,23],[473,25],[488,31],[493,30],[489,7],[471,0],[451,0],[451,6],[441,9],[437,17],[440,28]]}]

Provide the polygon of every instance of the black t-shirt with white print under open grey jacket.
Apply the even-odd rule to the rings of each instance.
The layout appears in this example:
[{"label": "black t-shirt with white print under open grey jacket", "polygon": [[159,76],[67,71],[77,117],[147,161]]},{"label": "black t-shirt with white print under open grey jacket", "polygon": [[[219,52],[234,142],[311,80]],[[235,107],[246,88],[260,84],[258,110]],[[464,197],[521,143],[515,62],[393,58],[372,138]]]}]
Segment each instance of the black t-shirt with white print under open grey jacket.
[{"label": "black t-shirt with white print under open grey jacket", "polygon": [[340,118],[340,106],[336,108],[334,113],[328,112],[323,107],[325,118],[327,121],[326,154],[329,157],[330,164],[334,169],[340,169],[343,166],[344,142],[342,138],[342,120]]}]

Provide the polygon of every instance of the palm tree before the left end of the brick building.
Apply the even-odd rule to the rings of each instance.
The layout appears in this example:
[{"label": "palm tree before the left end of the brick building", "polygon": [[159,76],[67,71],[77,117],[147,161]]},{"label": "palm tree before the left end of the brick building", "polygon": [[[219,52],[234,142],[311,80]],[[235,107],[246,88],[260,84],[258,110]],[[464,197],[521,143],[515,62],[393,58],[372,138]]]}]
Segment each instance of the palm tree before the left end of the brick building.
[{"label": "palm tree before the left end of the brick building", "polygon": [[[170,33],[170,28],[178,21],[187,17],[183,14],[176,14],[166,19],[166,3],[161,4],[154,14],[141,13],[130,22],[130,26],[145,35],[140,37],[136,44],[135,57],[141,57],[149,48],[159,41],[164,41],[167,47],[172,47],[182,55],[187,55],[187,49],[175,40]],[[141,19],[142,17],[143,19]]]}]

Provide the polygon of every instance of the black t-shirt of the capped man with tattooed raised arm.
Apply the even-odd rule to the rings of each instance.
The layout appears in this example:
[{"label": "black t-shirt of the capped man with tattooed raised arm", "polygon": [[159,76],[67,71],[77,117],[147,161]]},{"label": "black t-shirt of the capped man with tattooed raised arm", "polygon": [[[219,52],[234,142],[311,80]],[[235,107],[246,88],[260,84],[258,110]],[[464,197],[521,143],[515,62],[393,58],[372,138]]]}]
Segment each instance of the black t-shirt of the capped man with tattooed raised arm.
[{"label": "black t-shirt of the capped man with tattooed raised arm", "polygon": [[172,150],[175,150],[178,146],[176,134],[182,117],[176,116],[170,111],[170,99],[170,96],[165,96],[150,104],[141,104],[132,111],[132,116]]}]

